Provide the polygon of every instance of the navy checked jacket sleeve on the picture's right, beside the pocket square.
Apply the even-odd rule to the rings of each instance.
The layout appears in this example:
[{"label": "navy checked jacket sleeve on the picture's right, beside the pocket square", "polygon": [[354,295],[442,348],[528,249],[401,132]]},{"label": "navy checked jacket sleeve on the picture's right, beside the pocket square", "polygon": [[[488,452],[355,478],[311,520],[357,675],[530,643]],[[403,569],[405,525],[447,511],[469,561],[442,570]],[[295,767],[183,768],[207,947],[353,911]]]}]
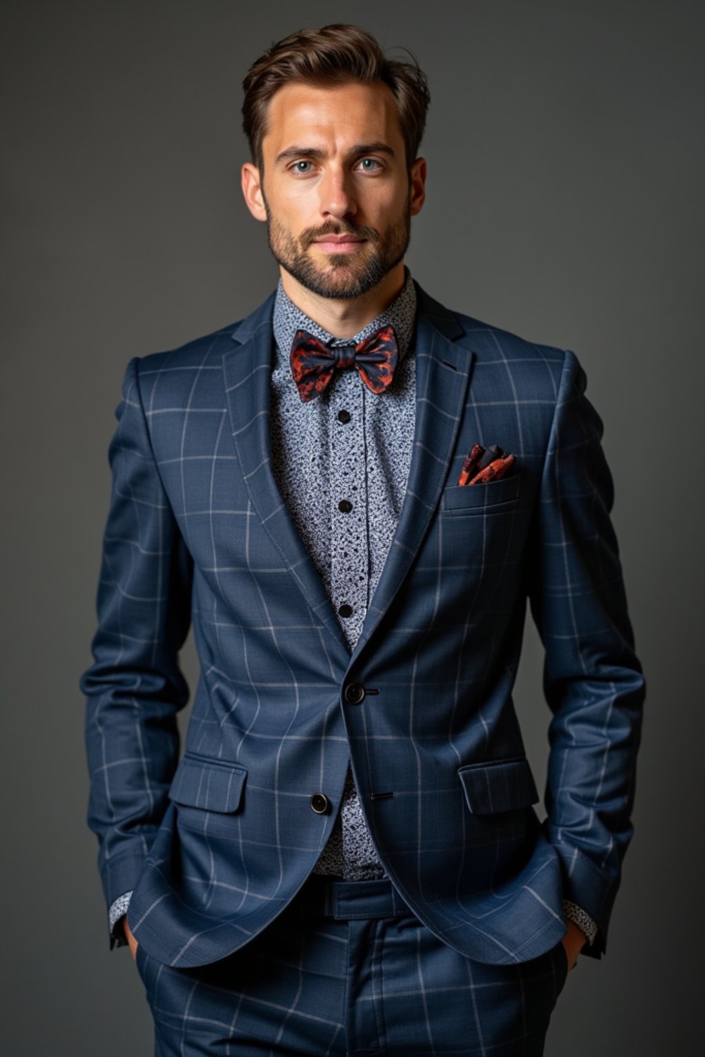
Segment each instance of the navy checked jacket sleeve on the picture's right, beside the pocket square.
[{"label": "navy checked jacket sleeve on the picture's right, beside the pocket square", "polygon": [[583,953],[599,958],[633,833],[645,685],[610,520],[602,424],[568,352],[541,478],[530,602],[553,713],[543,828],[560,856],[564,897],[598,926]]}]

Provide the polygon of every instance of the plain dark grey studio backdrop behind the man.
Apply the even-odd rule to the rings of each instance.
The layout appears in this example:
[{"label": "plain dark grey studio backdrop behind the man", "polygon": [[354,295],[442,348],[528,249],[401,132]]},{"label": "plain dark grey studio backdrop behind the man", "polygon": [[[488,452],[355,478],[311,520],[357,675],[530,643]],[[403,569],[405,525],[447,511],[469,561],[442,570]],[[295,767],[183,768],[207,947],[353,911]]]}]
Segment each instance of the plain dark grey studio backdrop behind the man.
[{"label": "plain dark grey studio backdrop behind the man", "polygon": [[[76,686],[113,409],[129,357],[271,291],[239,191],[240,82],[271,41],[338,20],[410,47],[430,78],[413,274],[574,349],[606,423],[649,697],[608,954],[569,978],[548,1057],[695,1052],[704,15],[683,0],[2,4],[5,1053],[151,1052],[136,971],[108,950]],[[517,698],[542,779],[533,631],[525,653]]]}]

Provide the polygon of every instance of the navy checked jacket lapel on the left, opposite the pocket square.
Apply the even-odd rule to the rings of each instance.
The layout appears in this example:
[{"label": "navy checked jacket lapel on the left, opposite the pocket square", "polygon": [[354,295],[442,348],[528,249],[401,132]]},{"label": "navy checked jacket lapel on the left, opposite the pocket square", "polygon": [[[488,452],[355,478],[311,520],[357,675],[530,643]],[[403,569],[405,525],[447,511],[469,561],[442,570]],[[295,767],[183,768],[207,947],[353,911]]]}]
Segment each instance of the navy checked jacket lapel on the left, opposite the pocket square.
[{"label": "navy checked jacket lapel on the left, opposite the pocket square", "polygon": [[350,650],[318,571],[291,519],[272,472],[270,378],[274,348],[274,296],[234,331],[233,338],[237,345],[223,356],[233,440],[253,507],[297,588],[330,631],[338,650],[342,651],[340,661],[347,666]]}]

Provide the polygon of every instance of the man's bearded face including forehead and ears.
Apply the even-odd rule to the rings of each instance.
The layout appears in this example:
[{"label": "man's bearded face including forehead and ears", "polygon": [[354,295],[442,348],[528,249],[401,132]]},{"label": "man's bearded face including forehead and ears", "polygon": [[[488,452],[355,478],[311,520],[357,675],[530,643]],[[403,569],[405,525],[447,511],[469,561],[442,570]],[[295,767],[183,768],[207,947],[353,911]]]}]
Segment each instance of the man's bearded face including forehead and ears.
[{"label": "man's bearded face including forehead and ears", "polygon": [[[251,211],[279,264],[319,297],[361,297],[404,259],[424,200],[386,85],[286,85],[272,98],[262,174],[243,167]],[[245,174],[245,170],[247,174]]]}]

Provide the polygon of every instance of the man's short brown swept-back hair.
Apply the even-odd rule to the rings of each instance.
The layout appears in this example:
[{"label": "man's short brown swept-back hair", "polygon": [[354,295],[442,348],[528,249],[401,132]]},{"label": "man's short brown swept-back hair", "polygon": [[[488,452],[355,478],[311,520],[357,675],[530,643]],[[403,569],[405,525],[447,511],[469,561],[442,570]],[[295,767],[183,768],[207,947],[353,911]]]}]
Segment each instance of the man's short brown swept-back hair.
[{"label": "man's short brown swept-back hair", "polygon": [[262,138],[272,96],[291,81],[313,85],[369,85],[382,80],[391,90],[406,146],[407,166],[416,157],[430,103],[426,74],[411,62],[388,59],[379,43],[359,25],[335,23],[321,30],[299,30],[261,55],[242,82],[242,130],[253,161],[262,170]]}]

